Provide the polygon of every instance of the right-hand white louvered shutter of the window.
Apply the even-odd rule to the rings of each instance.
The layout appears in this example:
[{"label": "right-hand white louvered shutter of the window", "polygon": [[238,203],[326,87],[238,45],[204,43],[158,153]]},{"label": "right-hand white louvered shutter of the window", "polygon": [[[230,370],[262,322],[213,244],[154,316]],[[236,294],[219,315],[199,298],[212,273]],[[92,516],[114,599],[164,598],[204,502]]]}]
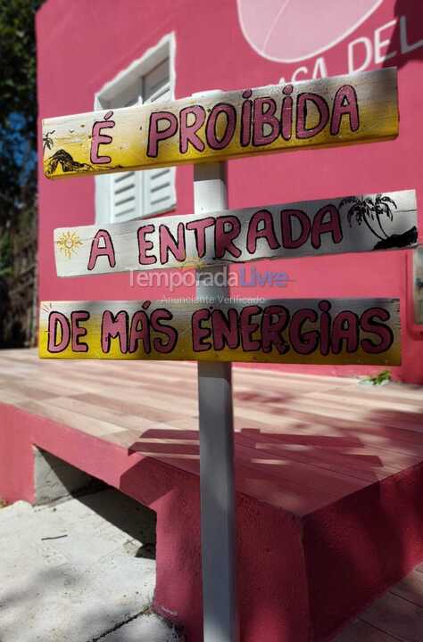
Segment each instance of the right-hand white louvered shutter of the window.
[{"label": "right-hand white louvered shutter of the window", "polygon": [[[144,77],[145,103],[171,100],[169,60],[163,61]],[[176,205],[175,168],[147,169],[143,179],[144,215],[160,214]]]}]

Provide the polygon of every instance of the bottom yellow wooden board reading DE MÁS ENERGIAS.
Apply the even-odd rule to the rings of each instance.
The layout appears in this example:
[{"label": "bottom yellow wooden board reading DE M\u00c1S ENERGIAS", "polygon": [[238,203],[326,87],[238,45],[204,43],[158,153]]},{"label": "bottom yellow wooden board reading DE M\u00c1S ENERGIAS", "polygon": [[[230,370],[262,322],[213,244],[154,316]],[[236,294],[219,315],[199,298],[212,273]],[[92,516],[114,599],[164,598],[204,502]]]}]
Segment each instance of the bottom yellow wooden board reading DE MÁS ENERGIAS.
[{"label": "bottom yellow wooden board reading DE M\u00c1S ENERGIAS", "polygon": [[397,366],[399,300],[44,302],[39,355]]}]

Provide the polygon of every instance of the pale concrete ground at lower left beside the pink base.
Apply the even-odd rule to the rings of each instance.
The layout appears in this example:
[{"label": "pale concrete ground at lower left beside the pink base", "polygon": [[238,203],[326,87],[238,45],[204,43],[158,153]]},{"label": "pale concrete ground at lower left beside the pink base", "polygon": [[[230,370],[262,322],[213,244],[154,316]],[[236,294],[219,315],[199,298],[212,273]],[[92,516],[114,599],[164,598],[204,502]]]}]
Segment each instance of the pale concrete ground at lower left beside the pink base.
[{"label": "pale concrete ground at lower left beside the pink base", "polygon": [[154,528],[152,511],[112,489],[2,508],[1,642],[177,642],[148,613]]}]

